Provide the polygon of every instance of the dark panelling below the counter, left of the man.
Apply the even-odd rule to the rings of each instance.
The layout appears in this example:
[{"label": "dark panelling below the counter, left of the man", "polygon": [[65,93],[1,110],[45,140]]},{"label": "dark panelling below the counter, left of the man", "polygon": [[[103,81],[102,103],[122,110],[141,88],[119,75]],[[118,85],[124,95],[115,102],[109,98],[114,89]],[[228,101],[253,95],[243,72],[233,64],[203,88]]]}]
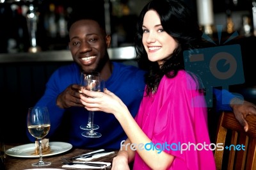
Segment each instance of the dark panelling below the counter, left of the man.
[{"label": "dark panelling below the counter, left of the man", "polygon": [[22,62],[0,65],[0,124],[4,141],[26,143],[26,114],[43,95],[56,68],[70,62]]}]

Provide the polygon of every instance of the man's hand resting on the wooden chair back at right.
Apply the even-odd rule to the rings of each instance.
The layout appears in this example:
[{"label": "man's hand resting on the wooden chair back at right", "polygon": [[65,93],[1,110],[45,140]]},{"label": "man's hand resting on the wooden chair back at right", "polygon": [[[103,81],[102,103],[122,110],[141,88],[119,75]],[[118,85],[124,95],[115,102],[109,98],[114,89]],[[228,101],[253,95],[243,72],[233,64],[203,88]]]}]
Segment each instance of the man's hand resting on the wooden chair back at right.
[{"label": "man's hand resting on the wooden chair back at right", "polygon": [[256,115],[256,105],[239,98],[233,98],[230,101],[230,107],[236,116],[237,121],[244,127],[244,131],[248,131],[248,123],[245,120],[248,114]]}]

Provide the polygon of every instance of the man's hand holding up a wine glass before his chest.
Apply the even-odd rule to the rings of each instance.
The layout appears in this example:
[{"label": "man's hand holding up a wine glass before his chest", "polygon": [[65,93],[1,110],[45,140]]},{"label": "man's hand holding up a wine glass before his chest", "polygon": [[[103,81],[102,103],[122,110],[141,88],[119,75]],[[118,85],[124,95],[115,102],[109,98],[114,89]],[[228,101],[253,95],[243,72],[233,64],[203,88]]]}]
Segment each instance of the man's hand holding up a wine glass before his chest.
[{"label": "man's hand holding up a wine glass before his chest", "polygon": [[81,93],[79,93],[82,87],[78,84],[71,84],[68,86],[63,92],[58,95],[56,100],[56,105],[61,109],[65,109],[68,107],[76,106],[76,107],[84,107],[81,103]]}]

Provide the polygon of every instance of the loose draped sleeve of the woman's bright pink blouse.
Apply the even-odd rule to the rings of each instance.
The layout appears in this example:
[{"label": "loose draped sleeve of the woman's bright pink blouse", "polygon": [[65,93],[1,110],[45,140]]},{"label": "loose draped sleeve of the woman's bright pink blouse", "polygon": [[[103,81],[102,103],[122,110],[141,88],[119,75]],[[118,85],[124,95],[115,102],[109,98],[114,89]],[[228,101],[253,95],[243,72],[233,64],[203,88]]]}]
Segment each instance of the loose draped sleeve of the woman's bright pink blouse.
[{"label": "loose draped sleeve of the woman's bright pink blouse", "polygon": [[159,100],[163,105],[157,114],[152,143],[186,162],[187,167],[203,164],[202,160],[206,162],[206,158],[212,158],[212,151],[205,153],[206,150],[202,150],[202,154],[198,154],[193,146],[188,151],[189,144],[210,144],[204,94],[196,89],[195,80],[189,75],[179,74],[174,79],[165,79],[159,89]]}]

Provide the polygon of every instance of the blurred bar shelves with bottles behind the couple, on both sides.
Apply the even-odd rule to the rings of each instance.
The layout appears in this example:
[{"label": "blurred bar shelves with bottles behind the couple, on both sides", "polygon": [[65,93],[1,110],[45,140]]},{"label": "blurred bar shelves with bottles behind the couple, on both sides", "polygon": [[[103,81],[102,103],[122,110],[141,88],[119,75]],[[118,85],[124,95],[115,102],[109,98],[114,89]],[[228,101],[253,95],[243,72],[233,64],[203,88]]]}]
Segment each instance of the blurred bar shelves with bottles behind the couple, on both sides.
[{"label": "blurred bar shelves with bottles behind the couple, on both sides", "polygon": [[[195,10],[198,19],[201,16],[199,22],[203,28],[207,24],[204,20],[208,20],[208,24],[213,26],[212,31],[215,25],[221,24],[225,28],[223,32],[227,32],[229,25],[228,32],[239,31],[241,35],[247,36],[253,33],[254,0],[184,1]],[[101,8],[104,13],[106,29],[112,36],[111,47],[133,45],[136,19],[148,0],[94,2],[97,2],[97,8]],[[77,4],[83,6],[84,10],[90,8],[88,0],[0,0],[0,53],[29,52],[31,46],[43,51],[67,49],[67,16]],[[29,18],[31,13],[35,14],[34,18]],[[33,31],[34,35],[31,33]],[[31,35],[36,40],[34,44]]]}]

